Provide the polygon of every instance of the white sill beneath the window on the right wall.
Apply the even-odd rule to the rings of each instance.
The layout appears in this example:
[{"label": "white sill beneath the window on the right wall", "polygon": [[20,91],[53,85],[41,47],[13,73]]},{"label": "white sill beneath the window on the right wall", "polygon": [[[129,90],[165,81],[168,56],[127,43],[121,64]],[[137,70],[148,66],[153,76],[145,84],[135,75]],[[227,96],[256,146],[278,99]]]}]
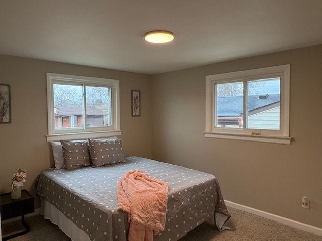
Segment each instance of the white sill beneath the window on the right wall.
[{"label": "white sill beneath the window on the right wall", "polygon": [[291,137],[203,132],[205,137],[291,145]]}]

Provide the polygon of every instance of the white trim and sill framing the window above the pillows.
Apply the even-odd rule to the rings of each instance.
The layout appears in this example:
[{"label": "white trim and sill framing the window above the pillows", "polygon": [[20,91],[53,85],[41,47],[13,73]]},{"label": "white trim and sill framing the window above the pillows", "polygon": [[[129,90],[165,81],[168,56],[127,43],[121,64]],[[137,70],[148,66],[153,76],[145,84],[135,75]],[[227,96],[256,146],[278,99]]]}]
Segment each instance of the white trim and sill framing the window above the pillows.
[{"label": "white trim and sill framing the window above the pillows", "polygon": [[[69,130],[54,129],[54,99],[53,84],[72,83],[72,84],[89,84],[93,86],[107,86],[111,88],[111,106],[112,106],[112,126],[109,127],[92,127],[92,128],[75,128]],[[48,135],[47,141],[74,138],[96,138],[102,136],[121,135],[120,130],[120,87],[119,80],[103,79],[76,75],[47,73],[47,111],[48,111]],[[85,116],[84,116],[85,117]]]}]

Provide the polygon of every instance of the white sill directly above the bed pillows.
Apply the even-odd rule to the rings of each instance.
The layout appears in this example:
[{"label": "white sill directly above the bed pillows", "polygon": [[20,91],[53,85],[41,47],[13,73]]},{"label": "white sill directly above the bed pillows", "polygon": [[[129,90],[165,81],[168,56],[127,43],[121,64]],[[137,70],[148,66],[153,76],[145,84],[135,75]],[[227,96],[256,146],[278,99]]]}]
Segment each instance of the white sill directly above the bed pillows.
[{"label": "white sill directly above the bed pillows", "polygon": [[77,132],[77,133],[59,133],[46,135],[48,141],[67,140],[67,139],[83,139],[83,138],[98,138],[98,137],[111,137],[121,135],[121,130],[111,131],[96,131],[96,132]]}]

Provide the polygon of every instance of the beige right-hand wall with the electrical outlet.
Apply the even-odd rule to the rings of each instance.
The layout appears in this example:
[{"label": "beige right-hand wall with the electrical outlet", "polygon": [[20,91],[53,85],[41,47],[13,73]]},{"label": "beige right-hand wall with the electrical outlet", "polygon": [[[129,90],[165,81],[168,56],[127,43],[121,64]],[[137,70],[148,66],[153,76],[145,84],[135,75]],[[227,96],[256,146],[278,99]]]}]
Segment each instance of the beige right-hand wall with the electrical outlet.
[{"label": "beige right-hand wall with the electrical outlet", "polygon": [[[292,145],[203,137],[206,75],[282,64]],[[322,227],[322,45],[152,77],[154,159],[214,174],[227,200]]]}]

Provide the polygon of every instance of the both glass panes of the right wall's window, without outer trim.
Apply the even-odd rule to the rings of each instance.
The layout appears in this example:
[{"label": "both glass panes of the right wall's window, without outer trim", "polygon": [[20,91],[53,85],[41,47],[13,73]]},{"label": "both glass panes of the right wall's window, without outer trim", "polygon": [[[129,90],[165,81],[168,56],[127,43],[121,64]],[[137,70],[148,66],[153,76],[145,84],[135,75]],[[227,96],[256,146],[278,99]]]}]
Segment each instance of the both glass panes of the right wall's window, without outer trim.
[{"label": "both glass panes of the right wall's window, without outer trim", "polygon": [[215,127],[280,130],[280,77],[215,84]]}]

